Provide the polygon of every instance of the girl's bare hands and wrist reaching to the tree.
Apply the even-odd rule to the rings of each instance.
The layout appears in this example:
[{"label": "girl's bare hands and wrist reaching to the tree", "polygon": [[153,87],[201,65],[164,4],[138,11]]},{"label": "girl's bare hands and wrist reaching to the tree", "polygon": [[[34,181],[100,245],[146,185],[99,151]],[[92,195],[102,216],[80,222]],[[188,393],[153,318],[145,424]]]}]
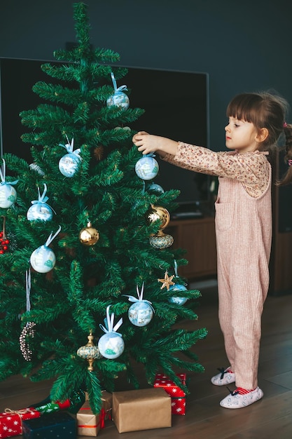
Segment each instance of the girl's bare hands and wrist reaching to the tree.
[{"label": "girl's bare hands and wrist reaching to the tree", "polygon": [[167,137],[160,137],[158,135],[151,135],[146,131],[139,131],[132,138],[134,145],[143,154],[150,154],[158,151],[158,154],[165,156],[165,154],[176,154],[178,143],[174,140],[167,139]]}]

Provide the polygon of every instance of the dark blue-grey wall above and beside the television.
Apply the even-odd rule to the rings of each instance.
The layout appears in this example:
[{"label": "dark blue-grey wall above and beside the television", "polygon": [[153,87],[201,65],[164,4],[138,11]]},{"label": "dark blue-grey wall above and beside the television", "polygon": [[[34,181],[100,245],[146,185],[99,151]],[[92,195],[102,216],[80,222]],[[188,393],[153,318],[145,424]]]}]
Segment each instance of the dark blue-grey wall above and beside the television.
[{"label": "dark blue-grey wall above and beside the television", "polygon": [[[225,107],[236,93],[273,88],[292,104],[291,0],[85,3],[93,45],[116,50],[121,64],[209,73],[214,150],[224,149]],[[54,50],[75,41],[72,5],[69,0],[1,4],[0,56],[53,60]]]}]

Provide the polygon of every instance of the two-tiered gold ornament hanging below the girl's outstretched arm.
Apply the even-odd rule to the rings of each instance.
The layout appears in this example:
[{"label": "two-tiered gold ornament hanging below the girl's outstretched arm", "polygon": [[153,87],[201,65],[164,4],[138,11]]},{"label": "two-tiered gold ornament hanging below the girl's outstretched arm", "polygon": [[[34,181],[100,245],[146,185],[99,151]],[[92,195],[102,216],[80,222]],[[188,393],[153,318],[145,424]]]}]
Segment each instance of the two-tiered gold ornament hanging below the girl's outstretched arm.
[{"label": "two-tiered gold ornament hanging below the girl's outstretched arm", "polygon": [[169,211],[162,206],[151,205],[151,212],[148,213],[148,222],[155,222],[160,219],[160,229],[157,234],[149,238],[150,244],[154,248],[162,249],[170,247],[174,243],[172,235],[165,234],[163,229],[168,226],[170,221]]}]

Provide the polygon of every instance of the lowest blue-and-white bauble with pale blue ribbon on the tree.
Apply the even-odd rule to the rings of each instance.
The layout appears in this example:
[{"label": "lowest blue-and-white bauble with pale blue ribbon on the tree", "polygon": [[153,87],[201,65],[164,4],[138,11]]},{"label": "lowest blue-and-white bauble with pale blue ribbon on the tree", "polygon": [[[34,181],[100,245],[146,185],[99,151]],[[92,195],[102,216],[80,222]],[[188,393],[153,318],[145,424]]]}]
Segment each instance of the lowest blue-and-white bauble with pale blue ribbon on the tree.
[{"label": "lowest blue-and-white bauble with pale blue ribbon on the tree", "polygon": [[118,320],[115,326],[113,326],[114,314],[109,314],[109,308],[111,305],[106,307],[106,318],[104,319],[104,326],[99,325],[101,329],[105,332],[102,337],[100,337],[98,341],[98,349],[104,358],[109,358],[112,360],[113,358],[119,357],[124,349],[125,343],[122,335],[119,332],[116,332],[120,325],[123,323],[123,318]]}]

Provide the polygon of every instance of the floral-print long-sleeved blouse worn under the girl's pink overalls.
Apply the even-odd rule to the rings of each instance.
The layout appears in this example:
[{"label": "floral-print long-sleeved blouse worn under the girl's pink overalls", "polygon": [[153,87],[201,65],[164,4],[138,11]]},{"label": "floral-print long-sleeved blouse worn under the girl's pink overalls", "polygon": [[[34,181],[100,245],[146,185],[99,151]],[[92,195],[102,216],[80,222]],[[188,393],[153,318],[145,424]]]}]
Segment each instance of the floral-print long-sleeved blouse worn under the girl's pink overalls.
[{"label": "floral-print long-sleeved blouse worn under the girl's pink overalls", "polygon": [[237,151],[214,152],[205,147],[179,142],[176,155],[166,154],[163,160],[197,173],[227,177],[242,182],[246,192],[257,197],[263,194],[270,177],[267,152],[238,154]]}]

